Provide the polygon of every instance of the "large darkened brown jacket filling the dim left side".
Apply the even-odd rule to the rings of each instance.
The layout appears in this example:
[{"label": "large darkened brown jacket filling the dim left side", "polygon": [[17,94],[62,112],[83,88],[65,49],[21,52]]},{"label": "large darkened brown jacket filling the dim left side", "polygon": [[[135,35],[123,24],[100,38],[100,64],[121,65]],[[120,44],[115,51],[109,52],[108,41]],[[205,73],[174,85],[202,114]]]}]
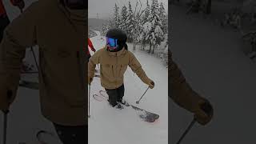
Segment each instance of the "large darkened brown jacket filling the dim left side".
[{"label": "large darkened brown jacket filling the dim left side", "polygon": [[[58,0],[34,2],[7,26],[0,46],[0,99],[16,96],[26,48],[39,46],[42,114],[67,126],[87,122],[86,10],[68,10]],[[0,102],[0,109],[6,102]]]}]

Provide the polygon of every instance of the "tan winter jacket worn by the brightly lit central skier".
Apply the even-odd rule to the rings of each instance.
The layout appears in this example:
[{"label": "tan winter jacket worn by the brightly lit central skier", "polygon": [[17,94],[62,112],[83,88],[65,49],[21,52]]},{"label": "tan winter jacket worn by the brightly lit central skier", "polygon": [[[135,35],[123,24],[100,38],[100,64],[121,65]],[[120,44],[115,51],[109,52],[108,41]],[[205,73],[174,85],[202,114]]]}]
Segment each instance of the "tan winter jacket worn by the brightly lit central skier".
[{"label": "tan winter jacket worn by the brightly lit central skier", "polygon": [[110,52],[106,47],[98,50],[89,60],[88,77],[94,77],[94,69],[97,64],[100,64],[100,76],[102,87],[106,89],[116,89],[123,84],[123,74],[126,72],[127,66],[130,66],[141,78],[142,82],[149,85],[151,82],[142,69],[141,64],[129,50],[122,48],[118,52]]}]

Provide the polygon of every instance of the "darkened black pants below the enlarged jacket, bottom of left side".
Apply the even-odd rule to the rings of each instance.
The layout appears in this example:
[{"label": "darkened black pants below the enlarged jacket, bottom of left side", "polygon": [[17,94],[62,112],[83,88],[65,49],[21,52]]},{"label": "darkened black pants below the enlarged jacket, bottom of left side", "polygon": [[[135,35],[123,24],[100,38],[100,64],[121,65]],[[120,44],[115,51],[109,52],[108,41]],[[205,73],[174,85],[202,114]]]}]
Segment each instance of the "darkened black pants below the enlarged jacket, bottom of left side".
[{"label": "darkened black pants below the enlarged jacket, bottom of left side", "polygon": [[88,143],[88,126],[62,126],[54,123],[54,127],[63,144]]}]

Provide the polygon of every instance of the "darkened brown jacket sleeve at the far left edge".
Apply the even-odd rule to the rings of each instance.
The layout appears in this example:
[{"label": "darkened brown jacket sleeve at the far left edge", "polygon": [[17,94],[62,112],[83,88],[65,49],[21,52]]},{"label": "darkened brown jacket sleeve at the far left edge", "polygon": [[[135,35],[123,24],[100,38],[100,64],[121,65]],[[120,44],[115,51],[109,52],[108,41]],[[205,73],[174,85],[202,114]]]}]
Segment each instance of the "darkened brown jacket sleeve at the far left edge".
[{"label": "darkened brown jacket sleeve at the far left edge", "polygon": [[18,89],[26,48],[35,44],[34,5],[6,27],[0,45],[0,97],[6,96],[6,89],[12,90],[10,102],[14,101]]}]

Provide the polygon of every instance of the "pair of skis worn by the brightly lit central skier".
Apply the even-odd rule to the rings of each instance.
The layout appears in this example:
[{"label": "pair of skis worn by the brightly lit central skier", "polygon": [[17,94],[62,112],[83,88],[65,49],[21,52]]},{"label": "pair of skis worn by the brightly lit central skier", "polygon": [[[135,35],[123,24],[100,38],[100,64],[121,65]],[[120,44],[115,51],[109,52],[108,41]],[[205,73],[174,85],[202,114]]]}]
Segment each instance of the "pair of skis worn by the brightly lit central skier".
[{"label": "pair of skis worn by the brightly lit central skier", "polygon": [[[102,94],[102,93],[106,93],[106,91],[100,90],[99,91],[100,96],[98,94],[94,94],[93,95],[94,99],[97,100],[98,102],[102,102],[102,101],[107,102],[108,96],[106,96],[106,94]],[[144,121],[144,122],[150,122],[150,123],[155,122],[160,117],[158,114],[154,114],[150,111],[143,110],[143,109],[139,108],[138,106],[134,106],[131,104],[128,104],[128,105],[122,104],[122,105],[126,106],[126,107],[131,107],[133,110],[135,110],[136,113],[138,114],[139,118],[141,118],[142,121]]]}]

